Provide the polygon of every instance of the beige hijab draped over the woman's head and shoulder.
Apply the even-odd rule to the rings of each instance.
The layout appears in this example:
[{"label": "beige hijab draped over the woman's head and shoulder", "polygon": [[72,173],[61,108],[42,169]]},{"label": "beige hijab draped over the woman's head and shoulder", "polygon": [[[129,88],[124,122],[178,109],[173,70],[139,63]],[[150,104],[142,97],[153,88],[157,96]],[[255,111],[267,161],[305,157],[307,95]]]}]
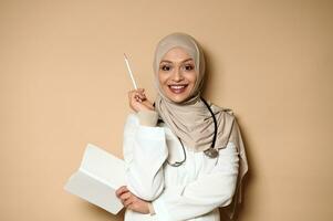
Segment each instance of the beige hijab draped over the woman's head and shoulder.
[{"label": "beige hijab draped over the woman's head and shoulder", "polygon": [[[158,70],[163,56],[174,48],[184,49],[195,61],[195,70],[197,82],[190,96],[183,102],[174,103],[170,101],[159,86]],[[215,125],[210,112],[201,101],[201,90],[205,77],[205,57],[202,50],[196,40],[185,33],[173,33],[162,39],[156,48],[154,56],[155,85],[158,90],[158,95],[155,101],[155,109],[160,118],[177,135],[186,147],[194,151],[204,151],[210,148]],[[228,217],[233,219],[237,204],[241,202],[241,183],[248,171],[248,162],[244,151],[244,146],[241,139],[240,130],[236,118],[230,109],[223,109],[209,103],[217,123],[218,134],[216,139],[216,149],[226,148],[228,141],[232,141],[239,151],[240,168],[239,179],[232,203],[225,208]]]}]

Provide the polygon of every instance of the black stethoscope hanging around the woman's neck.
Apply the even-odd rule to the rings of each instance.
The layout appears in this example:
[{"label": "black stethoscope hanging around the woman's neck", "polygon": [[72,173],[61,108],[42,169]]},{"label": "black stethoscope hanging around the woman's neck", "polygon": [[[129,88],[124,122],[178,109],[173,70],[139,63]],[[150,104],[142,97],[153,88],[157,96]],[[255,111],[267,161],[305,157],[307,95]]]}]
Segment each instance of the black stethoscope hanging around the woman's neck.
[{"label": "black stethoscope hanging around the woman's neck", "polygon": [[[217,158],[219,152],[218,150],[215,148],[215,143],[216,143],[216,137],[217,137],[217,120],[216,120],[216,117],[215,117],[215,114],[212,113],[209,104],[201,97],[201,101],[204,102],[204,104],[206,105],[206,107],[209,109],[210,114],[211,114],[211,117],[214,119],[214,127],[215,127],[215,130],[214,130],[214,137],[212,137],[212,143],[210,145],[210,147],[208,149],[206,149],[204,151],[204,154],[209,157],[209,158]],[[183,148],[183,154],[184,154],[184,159],[181,161],[175,161],[175,162],[169,162],[168,160],[167,164],[173,166],[173,167],[179,167],[180,165],[183,165],[185,161],[186,161],[186,151],[185,151],[185,147],[183,145],[183,141],[179,137],[177,137],[180,141],[180,145],[181,145],[181,148]]]}]

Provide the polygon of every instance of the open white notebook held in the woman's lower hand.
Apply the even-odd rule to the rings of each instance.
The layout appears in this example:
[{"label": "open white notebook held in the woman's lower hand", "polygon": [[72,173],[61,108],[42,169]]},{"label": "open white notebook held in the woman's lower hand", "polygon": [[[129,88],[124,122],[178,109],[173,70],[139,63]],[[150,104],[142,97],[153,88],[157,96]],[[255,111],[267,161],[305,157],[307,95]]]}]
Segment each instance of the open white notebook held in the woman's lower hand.
[{"label": "open white notebook held in the woman's lower hand", "polygon": [[70,177],[64,189],[116,214],[122,210],[123,204],[115,191],[124,185],[124,161],[89,144],[79,170]]}]

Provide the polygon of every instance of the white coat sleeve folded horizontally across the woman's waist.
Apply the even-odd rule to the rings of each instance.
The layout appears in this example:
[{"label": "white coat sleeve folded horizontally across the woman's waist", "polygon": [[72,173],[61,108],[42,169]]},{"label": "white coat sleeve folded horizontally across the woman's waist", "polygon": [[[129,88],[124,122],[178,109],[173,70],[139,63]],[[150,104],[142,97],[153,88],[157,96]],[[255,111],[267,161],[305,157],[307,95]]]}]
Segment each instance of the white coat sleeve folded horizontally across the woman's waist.
[{"label": "white coat sleeve folded horizontally across the woman's waist", "polygon": [[166,188],[153,201],[159,221],[177,221],[200,217],[218,207],[231,203],[236,190],[239,157],[236,146],[229,143],[219,150],[211,172],[196,181],[177,188]]}]

